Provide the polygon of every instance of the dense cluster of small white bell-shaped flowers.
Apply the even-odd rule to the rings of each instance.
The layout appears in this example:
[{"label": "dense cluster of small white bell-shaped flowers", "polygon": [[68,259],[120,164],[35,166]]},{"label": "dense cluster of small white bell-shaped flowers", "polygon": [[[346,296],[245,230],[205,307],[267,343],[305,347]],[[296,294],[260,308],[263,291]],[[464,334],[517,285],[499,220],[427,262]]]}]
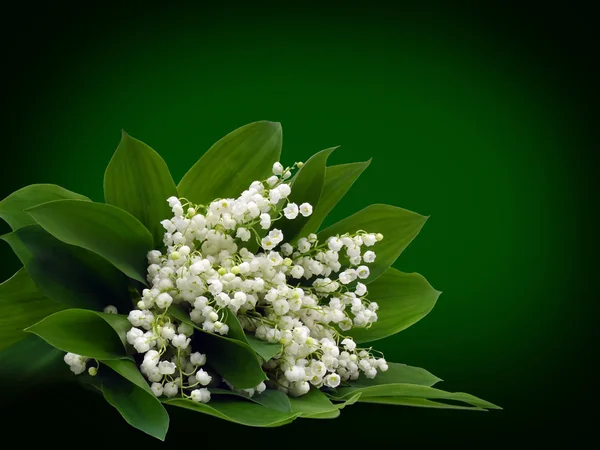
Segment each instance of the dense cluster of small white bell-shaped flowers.
[{"label": "dense cluster of small white bell-shaped flowers", "polygon": [[[194,327],[169,315],[172,304],[189,311],[205,332],[227,335],[228,311],[258,339],[280,344],[280,352],[263,365],[267,385],[293,396],[311,385],[335,388],[361,372],[373,378],[387,370],[383,358],[342,334],[377,320],[378,305],[366,298],[361,280],[376,258],[370,248],[383,236],[359,230],[325,242],[315,234],[286,242],[275,222],[312,214],[310,204],[288,200],[286,180],[295,167],[302,163],[290,168],[275,163],[273,176],[253,182],[236,199],[208,205],[168,199],[173,217],[162,222],[166,251],[148,254],[151,286],[129,313],[133,328],[127,333],[144,354],[141,371],[157,396],[180,393],[208,402],[209,384],[225,382],[236,390],[201,368],[206,356],[192,352]],[[265,388],[261,383],[244,392]]]}]

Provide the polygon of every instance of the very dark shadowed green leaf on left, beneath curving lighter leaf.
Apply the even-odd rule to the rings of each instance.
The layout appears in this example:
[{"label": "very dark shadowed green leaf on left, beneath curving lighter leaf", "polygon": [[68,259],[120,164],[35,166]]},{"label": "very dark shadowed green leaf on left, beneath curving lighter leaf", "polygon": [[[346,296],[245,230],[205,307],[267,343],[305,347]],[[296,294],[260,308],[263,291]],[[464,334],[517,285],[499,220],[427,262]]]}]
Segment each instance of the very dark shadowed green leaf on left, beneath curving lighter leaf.
[{"label": "very dark shadowed green leaf on left, beneath curving lighter leaf", "polygon": [[2,239],[13,247],[46,297],[72,308],[131,309],[127,277],[96,253],[66,244],[39,225],[19,228]]}]

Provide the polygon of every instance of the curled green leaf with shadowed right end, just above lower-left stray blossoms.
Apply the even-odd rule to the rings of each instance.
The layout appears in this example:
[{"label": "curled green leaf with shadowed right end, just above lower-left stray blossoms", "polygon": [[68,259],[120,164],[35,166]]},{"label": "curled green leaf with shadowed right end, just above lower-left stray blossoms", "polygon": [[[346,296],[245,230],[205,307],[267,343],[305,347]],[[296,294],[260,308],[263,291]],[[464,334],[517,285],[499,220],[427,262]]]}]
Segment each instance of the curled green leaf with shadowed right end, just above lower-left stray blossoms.
[{"label": "curled green leaf with shadowed right end, just above lower-left stray blossoms", "polygon": [[97,359],[126,357],[125,334],[131,327],[126,316],[86,309],[66,309],[27,328],[65,352]]}]

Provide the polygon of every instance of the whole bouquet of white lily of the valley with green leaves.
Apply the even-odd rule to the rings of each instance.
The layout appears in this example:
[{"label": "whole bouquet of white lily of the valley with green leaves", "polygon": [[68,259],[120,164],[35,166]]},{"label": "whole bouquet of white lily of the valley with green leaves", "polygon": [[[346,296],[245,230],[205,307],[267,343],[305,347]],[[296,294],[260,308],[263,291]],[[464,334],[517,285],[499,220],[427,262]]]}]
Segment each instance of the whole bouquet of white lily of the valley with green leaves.
[{"label": "whole bouquet of white lily of the valley with green leaves", "polygon": [[426,217],[376,204],[321,229],[369,165],[327,166],[333,150],[284,167],[281,126],[256,122],[175,185],[123,133],[106,203],[50,184],[2,200],[2,239],[23,263],[0,285],[2,377],[68,376],[160,439],[174,407],[260,427],[361,402],[497,408],[365,344],[440,292],[391,267]]}]

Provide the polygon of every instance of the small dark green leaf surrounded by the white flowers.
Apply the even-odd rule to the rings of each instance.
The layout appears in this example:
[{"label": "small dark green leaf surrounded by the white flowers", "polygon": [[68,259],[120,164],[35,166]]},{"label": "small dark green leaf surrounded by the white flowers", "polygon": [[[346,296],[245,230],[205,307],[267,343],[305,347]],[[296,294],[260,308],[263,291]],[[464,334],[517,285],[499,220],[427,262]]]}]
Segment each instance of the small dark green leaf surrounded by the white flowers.
[{"label": "small dark green leaf surrounded by the white flowers", "polygon": [[197,341],[202,352],[206,353],[209,364],[236,388],[251,389],[267,379],[258,355],[248,344],[205,332],[178,305],[171,305],[169,314],[201,331],[197,333]]}]

